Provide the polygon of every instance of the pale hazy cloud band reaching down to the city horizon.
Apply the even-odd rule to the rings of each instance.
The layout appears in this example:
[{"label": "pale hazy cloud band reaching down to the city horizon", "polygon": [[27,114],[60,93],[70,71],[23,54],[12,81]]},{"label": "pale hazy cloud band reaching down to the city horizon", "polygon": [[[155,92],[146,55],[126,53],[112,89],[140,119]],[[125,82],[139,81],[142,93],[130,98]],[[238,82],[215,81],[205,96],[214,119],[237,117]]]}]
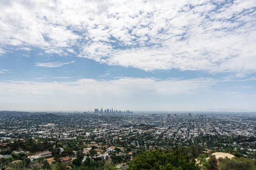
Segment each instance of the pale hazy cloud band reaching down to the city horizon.
[{"label": "pale hazy cloud band reaching down to the city horizon", "polygon": [[[248,79],[250,81],[253,79]],[[255,79],[254,79],[255,80]],[[232,79],[228,80],[234,85]],[[122,77],[115,80],[79,79],[73,82],[7,81],[0,82],[2,108],[19,103],[27,109],[68,110],[94,107],[130,108],[136,110],[204,110],[209,108],[253,108],[255,94],[216,91],[224,79],[155,79]],[[71,100],[67,100],[71,99]],[[36,101],[36,102],[35,102]],[[44,107],[43,107],[44,106]],[[93,107],[93,108],[92,108]]]}]

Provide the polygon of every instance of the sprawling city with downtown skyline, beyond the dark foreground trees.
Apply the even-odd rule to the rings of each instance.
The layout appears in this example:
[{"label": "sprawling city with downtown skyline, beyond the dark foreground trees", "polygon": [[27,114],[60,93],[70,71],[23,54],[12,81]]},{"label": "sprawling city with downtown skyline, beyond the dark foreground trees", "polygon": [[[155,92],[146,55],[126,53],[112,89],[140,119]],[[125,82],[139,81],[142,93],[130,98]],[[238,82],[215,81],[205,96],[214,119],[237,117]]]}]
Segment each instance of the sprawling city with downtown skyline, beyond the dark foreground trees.
[{"label": "sprawling city with downtown skyline, beyond the dark foreground trees", "polygon": [[0,111],[1,166],[129,169],[143,152],[177,148],[190,160],[256,159],[255,113],[102,111]]}]

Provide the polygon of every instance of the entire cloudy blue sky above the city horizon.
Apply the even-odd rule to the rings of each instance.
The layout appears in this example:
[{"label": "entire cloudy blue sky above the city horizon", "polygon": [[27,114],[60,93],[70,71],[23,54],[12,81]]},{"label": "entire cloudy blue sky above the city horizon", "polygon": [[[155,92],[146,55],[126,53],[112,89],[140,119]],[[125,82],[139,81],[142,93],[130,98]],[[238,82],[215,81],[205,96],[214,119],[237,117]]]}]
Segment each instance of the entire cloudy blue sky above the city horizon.
[{"label": "entire cloudy blue sky above the city horizon", "polygon": [[0,110],[256,111],[256,0],[0,8]]}]

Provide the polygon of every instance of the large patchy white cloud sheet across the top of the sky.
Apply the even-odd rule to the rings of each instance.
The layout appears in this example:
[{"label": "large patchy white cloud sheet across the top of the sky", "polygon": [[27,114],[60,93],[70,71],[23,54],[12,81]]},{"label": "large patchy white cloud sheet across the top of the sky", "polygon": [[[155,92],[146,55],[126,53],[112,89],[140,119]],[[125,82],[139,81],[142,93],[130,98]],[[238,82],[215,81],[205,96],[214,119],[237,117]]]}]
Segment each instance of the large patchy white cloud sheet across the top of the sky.
[{"label": "large patchy white cloud sheet across the top of the sky", "polygon": [[0,6],[5,47],[76,51],[145,71],[256,72],[255,0],[11,0]]}]

